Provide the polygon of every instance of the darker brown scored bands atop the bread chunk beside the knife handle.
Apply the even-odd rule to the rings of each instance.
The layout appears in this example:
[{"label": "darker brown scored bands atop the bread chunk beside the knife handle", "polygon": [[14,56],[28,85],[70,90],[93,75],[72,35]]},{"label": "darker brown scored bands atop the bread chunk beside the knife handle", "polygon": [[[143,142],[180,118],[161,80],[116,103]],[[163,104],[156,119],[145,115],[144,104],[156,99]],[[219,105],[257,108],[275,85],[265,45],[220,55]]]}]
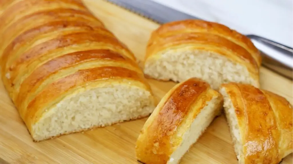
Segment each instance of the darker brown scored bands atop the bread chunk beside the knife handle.
[{"label": "darker brown scored bands atop the bread chunk beside the knife handle", "polygon": [[[151,34],[148,42],[149,52],[147,53],[147,56],[155,53],[152,51],[158,51],[153,50],[156,49],[154,47],[156,47],[158,42],[169,43],[169,39],[176,40],[176,37],[180,38],[182,35],[185,37],[181,39],[178,38],[177,40],[186,41],[189,39],[189,34],[193,34],[194,36],[198,35],[196,40],[204,43],[208,43],[209,41],[217,41],[217,39],[219,40],[218,42],[224,41],[225,43],[223,43],[223,45],[228,44],[228,48],[232,50],[241,49],[238,52],[243,55],[241,54],[240,56],[250,55],[254,60],[251,60],[250,57],[244,58],[247,58],[251,64],[255,64],[256,62],[258,67],[261,65],[260,51],[253,45],[247,36],[219,23],[204,20],[180,20],[161,25]],[[211,40],[205,39],[206,37],[204,37],[204,34],[207,34],[207,38],[211,37]]]}]

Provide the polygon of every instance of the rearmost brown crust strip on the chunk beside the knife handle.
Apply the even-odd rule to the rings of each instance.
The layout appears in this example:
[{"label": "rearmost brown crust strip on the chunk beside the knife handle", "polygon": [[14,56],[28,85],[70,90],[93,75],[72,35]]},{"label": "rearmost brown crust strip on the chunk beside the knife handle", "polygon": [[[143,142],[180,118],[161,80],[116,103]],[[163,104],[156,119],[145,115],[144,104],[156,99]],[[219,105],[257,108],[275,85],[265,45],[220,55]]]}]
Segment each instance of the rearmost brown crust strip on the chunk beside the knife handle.
[{"label": "rearmost brown crust strip on the chunk beside the knife handle", "polygon": [[[258,67],[261,65],[260,51],[253,45],[248,37],[235,30],[229,29],[229,27],[224,25],[204,20],[180,20],[166,23],[152,33],[151,38],[149,39],[148,48],[151,48],[153,45],[164,40],[165,37],[188,33],[212,34],[216,35],[218,38],[222,37],[229,40],[232,43],[243,47],[242,49],[246,50],[245,53],[254,58],[255,61],[251,61],[251,64],[256,62]],[[232,43],[230,43],[230,45]],[[244,50],[242,51],[244,52]],[[150,52],[150,54],[153,53]],[[149,53],[147,53],[147,55],[149,55]]]}]

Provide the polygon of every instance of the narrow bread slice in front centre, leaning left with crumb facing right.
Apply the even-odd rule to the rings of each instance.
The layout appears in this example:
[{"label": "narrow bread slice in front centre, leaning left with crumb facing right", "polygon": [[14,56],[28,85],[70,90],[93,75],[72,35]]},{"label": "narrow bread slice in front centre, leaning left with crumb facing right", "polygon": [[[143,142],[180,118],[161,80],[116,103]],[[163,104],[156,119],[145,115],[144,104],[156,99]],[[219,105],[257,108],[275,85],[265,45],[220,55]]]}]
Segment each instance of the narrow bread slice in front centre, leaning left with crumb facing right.
[{"label": "narrow bread slice in front centre, leaning left with crumb facing right", "polygon": [[190,78],[174,86],[144,124],[136,143],[137,160],[175,164],[222,109],[222,95]]}]

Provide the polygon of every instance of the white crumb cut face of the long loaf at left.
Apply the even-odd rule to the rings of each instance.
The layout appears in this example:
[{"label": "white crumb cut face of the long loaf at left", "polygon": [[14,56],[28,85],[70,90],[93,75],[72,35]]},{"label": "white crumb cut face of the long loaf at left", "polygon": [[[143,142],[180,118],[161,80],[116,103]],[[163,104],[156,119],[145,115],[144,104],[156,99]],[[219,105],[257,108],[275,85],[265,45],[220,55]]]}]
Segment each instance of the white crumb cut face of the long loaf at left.
[{"label": "white crumb cut face of the long loaf at left", "polygon": [[78,91],[55,104],[32,125],[35,142],[149,116],[155,100],[148,90],[108,85]]}]

